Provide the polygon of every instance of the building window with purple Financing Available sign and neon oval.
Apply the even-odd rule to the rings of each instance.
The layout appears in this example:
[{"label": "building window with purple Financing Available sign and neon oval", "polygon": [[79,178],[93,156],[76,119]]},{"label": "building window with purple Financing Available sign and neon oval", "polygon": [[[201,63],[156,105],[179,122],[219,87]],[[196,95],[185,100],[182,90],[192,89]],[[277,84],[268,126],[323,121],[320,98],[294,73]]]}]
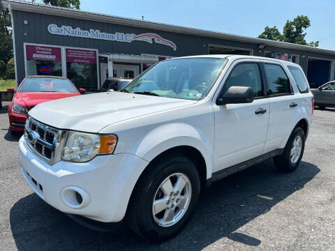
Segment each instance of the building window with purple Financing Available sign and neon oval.
[{"label": "building window with purple Financing Available sign and neon oval", "polygon": [[61,47],[26,45],[27,75],[62,75]]}]

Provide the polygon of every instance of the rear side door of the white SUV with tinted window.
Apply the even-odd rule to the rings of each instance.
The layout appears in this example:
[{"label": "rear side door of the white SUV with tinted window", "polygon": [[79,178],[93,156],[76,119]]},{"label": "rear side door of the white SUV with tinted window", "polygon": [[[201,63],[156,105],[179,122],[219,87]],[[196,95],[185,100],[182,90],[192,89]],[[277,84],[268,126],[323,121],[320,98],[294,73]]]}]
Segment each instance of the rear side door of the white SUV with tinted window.
[{"label": "rear side door of the white SUV with tinted window", "polygon": [[[285,146],[290,121],[299,108],[290,78],[281,63],[263,61],[267,96],[269,97],[269,129],[265,153]],[[284,146],[283,146],[284,144]]]}]

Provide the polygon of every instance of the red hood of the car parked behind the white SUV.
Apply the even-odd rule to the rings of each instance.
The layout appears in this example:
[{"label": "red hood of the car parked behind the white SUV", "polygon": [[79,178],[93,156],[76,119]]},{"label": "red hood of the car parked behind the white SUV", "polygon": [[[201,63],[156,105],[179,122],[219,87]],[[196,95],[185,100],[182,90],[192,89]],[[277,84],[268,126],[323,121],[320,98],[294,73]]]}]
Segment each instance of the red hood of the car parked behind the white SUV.
[{"label": "red hood of the car parked behind the white SUV", "polygon": [[73,96],[79,96],[80,93],[62,93],[62,92],[26,92],[26,93],[15,93],[14,102],[23,107],[34,107],[41,102],[50,100],[56,100],[59,98],[68,98]]}]

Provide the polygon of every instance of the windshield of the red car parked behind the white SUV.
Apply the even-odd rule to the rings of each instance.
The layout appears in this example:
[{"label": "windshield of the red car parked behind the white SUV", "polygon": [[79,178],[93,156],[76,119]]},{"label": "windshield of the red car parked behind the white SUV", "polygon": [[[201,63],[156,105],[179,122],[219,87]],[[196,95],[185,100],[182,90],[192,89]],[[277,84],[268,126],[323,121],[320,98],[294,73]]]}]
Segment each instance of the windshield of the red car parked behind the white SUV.
[{"label": "windshield of the red car parked behind the white SUV", "polygon": [[67,79],[36,77],[27,78],[20,85],[19,92],[69,92],[77,93],[75,86]]}]

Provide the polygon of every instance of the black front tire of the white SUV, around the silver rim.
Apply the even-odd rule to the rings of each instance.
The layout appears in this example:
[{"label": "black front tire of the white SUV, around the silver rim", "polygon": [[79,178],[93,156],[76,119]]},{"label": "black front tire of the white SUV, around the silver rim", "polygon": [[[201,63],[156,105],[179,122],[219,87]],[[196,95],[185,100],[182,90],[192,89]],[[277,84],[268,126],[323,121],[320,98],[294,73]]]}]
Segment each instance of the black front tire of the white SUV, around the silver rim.
[{"label": "black front tire of the white SUV, around the silver rim", "polygon": [[[186,213],[179,222],[170,227],[161,227],[154,220],[152,213],[154,196],[156,195],[159,185],[161,185],[165,178],[175,173],[184,174],[190,180],[192,188],[191,201]],[[151,178],[144,186],[143,196],[139,201],[140,211],[138,212],[138,218],[136,220],[140,231],[142,231],[141,236],[148,241],[155,242],[174,236],[181,231],[188,220],[190,220],[200,193],[200,178],[195,165],[191,160],[188,160],[188,158],[172,158],[168,160],[168,162],[161,163],[154,169],[154,172],[151,173],[150,176]]]}]

